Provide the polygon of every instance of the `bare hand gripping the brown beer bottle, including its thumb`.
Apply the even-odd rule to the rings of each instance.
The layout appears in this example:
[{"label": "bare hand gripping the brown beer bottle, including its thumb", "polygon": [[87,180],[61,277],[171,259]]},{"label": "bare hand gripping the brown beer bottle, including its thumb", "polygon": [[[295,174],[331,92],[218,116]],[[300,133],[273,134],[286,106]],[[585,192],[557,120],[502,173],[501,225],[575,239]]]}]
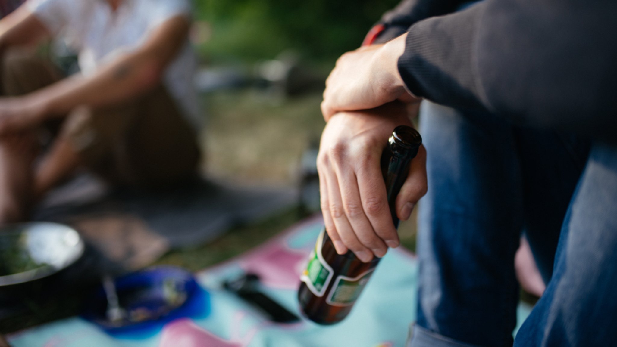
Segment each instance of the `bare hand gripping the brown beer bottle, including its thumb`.
[{"label": "bare hand gripping the brown beer bottle, including its thumb", "polygon": [[[411,121],[406,105],[392,102],[373,110],[336,113],[323,130],[317,157],[321,211],[339,254],[349,249],[368,262],[400,244],[380,168],[387,139],[399,125],[411,126]],[[420,147],[397,196],[401,220],[410,217],[426,190],[426,150]]]}]

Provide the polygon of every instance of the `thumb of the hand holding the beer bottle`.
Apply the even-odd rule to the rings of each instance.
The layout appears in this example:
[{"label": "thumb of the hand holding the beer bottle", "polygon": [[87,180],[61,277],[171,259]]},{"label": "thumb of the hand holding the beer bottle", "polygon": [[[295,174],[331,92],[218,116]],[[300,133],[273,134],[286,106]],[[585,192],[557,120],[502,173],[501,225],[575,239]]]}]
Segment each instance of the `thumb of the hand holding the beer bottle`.
[{"label": "thumb of the hand holding the beer bottle", "polygon": [[409,168],[409,174],[405,183],[400,188],[396,197],[397,216],[407,221],[412,215],[413,208],[418,200],[426,194],[428,183],[426,181],[426,150],[424,146],[418,149],[418,155],[413,158]]}]

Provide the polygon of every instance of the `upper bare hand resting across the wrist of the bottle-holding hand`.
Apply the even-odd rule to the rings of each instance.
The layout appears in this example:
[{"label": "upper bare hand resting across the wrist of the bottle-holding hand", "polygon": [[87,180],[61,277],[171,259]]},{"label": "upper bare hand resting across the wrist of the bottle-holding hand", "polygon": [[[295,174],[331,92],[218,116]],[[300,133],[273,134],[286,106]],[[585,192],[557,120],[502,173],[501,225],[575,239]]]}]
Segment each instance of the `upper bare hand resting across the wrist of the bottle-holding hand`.
[{"label": "upper bare hand resting across the wrist of the bottle-holding hand", "polygon": [[337,112],[368,110],[394,100],[419,102],[405,90],[399,57],[407,34],[386,44],[364,46],[343,54],[326,80],[321,112],[326,121]]}]

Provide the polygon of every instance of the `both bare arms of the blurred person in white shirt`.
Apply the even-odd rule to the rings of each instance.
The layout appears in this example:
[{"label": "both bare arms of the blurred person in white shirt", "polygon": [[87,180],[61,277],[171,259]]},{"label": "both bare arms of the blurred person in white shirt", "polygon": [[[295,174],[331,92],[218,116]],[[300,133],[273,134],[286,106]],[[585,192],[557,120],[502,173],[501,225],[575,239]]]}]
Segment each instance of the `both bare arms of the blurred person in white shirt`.
[{"label": "both bare arms of the blurred person in white shirt", "polygon": [[[0,135],[32,128],[78,105],[102,107],[144,94],[160,81],[186,42],[189,27],[188,18],[170,18],[138,49],[119,55],[93,75],[72,76],[26,96],[0,98]],[[23,6],[0,21],[0,52],[46,37],[43,23]]]}]

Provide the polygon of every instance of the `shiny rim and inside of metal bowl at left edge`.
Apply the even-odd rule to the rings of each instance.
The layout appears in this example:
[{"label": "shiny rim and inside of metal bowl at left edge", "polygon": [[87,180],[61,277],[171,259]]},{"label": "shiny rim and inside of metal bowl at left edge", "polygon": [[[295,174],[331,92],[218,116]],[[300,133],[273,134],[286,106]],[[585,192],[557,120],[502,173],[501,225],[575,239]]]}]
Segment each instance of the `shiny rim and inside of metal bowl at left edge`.
[{"label": "shiny rim and inside of metal bowl at left edge", "polygon": [[0,289],[51,276],[81,258],[85,245],[75,229],[52,222],[0,228]]}]

